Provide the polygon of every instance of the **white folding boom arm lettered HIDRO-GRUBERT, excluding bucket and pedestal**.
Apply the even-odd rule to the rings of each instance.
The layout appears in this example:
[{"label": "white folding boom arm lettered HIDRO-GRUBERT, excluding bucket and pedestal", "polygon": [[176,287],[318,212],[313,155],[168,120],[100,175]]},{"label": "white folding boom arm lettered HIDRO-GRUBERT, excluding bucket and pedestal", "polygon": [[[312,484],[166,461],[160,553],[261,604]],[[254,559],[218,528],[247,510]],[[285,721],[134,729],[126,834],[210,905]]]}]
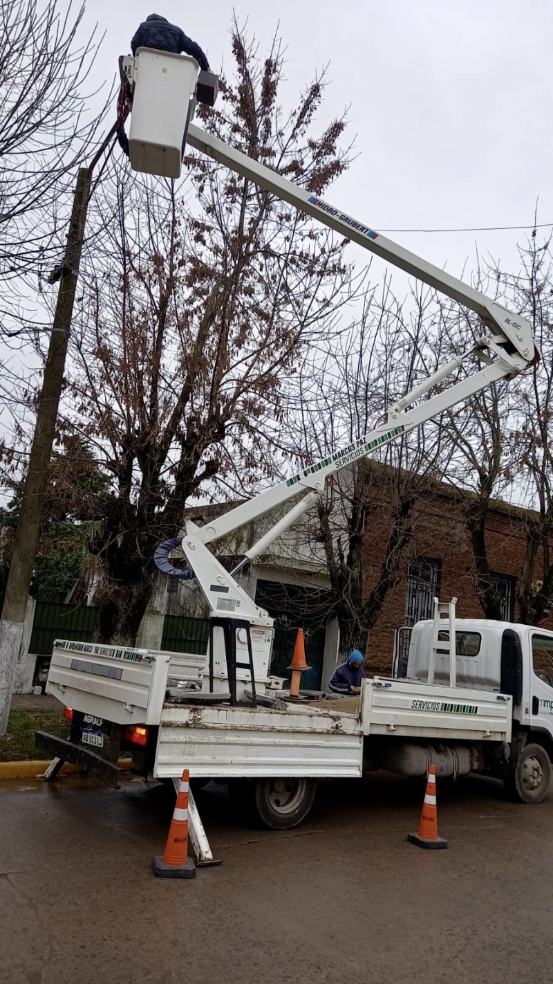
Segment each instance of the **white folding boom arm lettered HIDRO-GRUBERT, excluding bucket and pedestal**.
[{"label": "white folding boom arm lettered HIDRO-GRUBERT, excluding bucket and pedestal", "polygon": [[[531,326],[524,318],[520,315],[513,315],[506,308],[463,283],[462,280],[451,277],[438,267],[419,259],[414,253],[396,245],[390,239],[386,239],[351,216],[334,209],[292,181],[281,177],[280,174],[264,164],[251,160],[246,154],[242,154],[240,151],[228,147],[218,138],[204,133],[194,124],[189,127],[187,140],[195,150],[226,164],[232,170],[244,175],[277,197],[290,202],[291,205],[308,215],[312,215],[323,224],[383,257],[396,267],[459,301],[460,304],[475,311],[486,328],[491,330],[489,336],[486,335],[476,341],[474,349],[453,358],[427,380],[415,387],[411,393],[399,400],[391,407],[385,424],[360,437],[354,444],[333,452],[322,461],[309,465],[292,478],[280,482],[249,502],[237,506],[213,523],[201,527],[196,526],[191,521],[186,523],[186,531],[181,534],[183,536],[182,547],[212,611],[217,614],[223,611],[236,614],[240,612],[242,618],[259,618],[264,613],[260,612],[247,592],[219,564],[207,548],[207,543],[232,533],[245,523],[251,523],[270,510],[282,506],[288,500],[303,493],[300,501],[282,519],[274,523],[257,543],[249,548],[242,563],[253,560],[309,509],[323,492],[326,479],[330,475],[351,464],[352,461],[364,458],[383,444],[401,437],[402,434],[413,430],[414,427],[426,420],[439,416],[444,410],[479,393],[492,383],[522,372],[534,359],[535,347]],[[487,351],[485,351],[486,349]],[[456,372],[466,359],[473,356],[474,351],[481,362],[485,363],[483,368],[456,383],[449,390],[444,390],[428,400],[416,403],[447,376]],[[413,408],[409,409],[409,407]]]}]

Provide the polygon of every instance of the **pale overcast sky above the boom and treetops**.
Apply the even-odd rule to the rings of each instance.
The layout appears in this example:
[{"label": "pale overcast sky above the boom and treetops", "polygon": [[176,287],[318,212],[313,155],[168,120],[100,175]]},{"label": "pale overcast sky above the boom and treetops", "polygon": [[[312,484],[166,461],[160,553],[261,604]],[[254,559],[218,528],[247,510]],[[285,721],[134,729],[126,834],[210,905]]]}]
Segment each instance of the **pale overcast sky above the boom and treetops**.
[{"label": "pale overcast sky above the boom and treetops", "polygon": [[[97,77],[111,80],[138,23],[158,13],[232,69],[233,7],[265,51],[287,45],[286,101],[328,64],[320,119],[349,107],[358,157],[326,199],[380,231],[553,223],[551,0],[87,0],[106,31]],[[324,115],[323,115],[324,114]],[[547,232],[547,230],[543,230]],[[523,230],[388,232],[460,275],[474,243],[518,266]],[[352,247],[359,253],[358,247]]]}]

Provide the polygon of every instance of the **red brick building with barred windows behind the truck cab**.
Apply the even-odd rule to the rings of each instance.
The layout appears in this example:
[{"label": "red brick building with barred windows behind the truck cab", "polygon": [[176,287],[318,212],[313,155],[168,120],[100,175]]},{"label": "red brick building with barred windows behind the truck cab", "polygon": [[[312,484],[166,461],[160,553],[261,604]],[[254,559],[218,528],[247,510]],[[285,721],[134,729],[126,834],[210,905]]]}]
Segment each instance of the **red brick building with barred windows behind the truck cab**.
[{"label": "red brick building with barred windows behind the truck cab", "polygon": [[[369,470],[374,497],[378,495],[378,469]],[[384,484],[381,487],[384,489]],[[465,520],[468,498],[469,494],[438,482],[428,483],[417,498],[413,537],[403,557],[399,584],[388,593],[369,633],[366,662],[370,672],[391,672],[395,650],[401,660],[409,644],[409,627],[421,618],[431,618],[436,595],[445,601],[457,597],[460,618],[483,618],[474,588],[475,566]],[[525,564],[527,527],[533,516],[529,510],[499,500],[490,505],[486,548],[506,621],[519,618],[518,583]],[[364,534],[364,596],[378,578],[389,528],[390,511],[382,494],[381,505]],[[545,624],[553,628],[553,618],[550,616]]]}]

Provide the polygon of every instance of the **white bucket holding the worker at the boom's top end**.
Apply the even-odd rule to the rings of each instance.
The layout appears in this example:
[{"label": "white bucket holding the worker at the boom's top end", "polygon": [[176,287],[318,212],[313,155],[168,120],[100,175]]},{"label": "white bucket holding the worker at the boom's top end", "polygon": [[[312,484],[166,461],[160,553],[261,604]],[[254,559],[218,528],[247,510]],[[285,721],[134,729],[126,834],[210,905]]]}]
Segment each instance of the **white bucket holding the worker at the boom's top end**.
[{"label": "white bucket holding the worker at the boom's top end", "polygon": [[198,72],[199,65],[188,55],[138,48],[129,132],[134,170],[180,177]]}]

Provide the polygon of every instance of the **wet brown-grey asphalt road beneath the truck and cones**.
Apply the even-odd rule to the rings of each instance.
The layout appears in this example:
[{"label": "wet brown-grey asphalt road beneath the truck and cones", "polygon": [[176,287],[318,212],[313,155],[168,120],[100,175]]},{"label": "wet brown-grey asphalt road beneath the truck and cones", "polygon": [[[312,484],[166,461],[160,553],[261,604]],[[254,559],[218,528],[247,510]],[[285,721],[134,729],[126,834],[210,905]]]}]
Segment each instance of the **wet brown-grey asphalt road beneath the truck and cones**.
[{"label": "wet brown-grey asphalt road beneath the truck and cones", "polygon": [[220,868],[153,877],[174,798],[79,776],[0,784],[2,984],[549,984],[553,798],[438,784],[446,851],[406,840],[424,786],[327,782],[296,830],[240,827],[211,785],[198,808]]}]

